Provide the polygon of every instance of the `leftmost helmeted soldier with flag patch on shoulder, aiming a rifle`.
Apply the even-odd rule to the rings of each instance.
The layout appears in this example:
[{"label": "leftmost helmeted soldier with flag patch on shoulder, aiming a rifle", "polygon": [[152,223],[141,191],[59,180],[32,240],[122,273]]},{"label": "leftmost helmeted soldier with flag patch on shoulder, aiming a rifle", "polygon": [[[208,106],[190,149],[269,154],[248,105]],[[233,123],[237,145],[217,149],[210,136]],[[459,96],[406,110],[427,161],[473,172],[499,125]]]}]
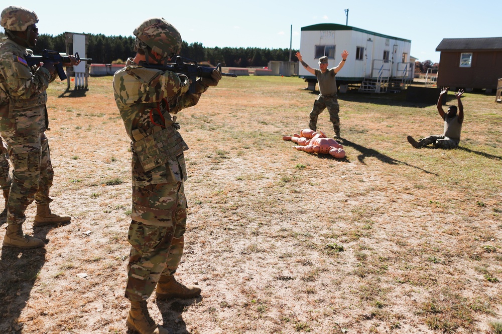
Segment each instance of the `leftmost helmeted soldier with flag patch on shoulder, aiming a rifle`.
[{"label": "leftmost helmeted soldier with flag patch on shoulder, aiming a rifle", "polygon": [[[33,200],[37,203],[34,226],[70,222],[70,217],[51,212],[49,189],[54,170],[45,131],[49,126],[47,93],[55,77],[52,63],[29,67],[25,58],[27,48],[37,43],[37,15],[22,7],[7,7],[0,15],[7,40],[0,46],[0,89],[7,100],[0,105],[0,132],[7,143],[13,165],[13,180],[7,203],[7,233],[4,247],[36,248],[44,241],[23,236],[25,211]],[[71,63],[79,62],[70,56]]]}]

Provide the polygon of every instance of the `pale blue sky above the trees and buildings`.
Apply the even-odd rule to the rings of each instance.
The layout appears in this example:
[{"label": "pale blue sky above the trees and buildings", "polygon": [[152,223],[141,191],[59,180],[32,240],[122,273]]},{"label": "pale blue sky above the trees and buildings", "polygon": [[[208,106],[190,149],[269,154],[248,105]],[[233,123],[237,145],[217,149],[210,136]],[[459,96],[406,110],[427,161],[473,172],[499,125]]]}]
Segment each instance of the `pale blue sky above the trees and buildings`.
[{"label": "pale blue sky above the trees and buildings", "polygon": [[[5,3],[5,2],[4,2]],[[114,2],[115,3],[115,2]],[[34,0],[11,3],[35,11],[41,34],[65,31],[131,36],[150,17],[163,17],[184,41],[205,47],[300,48],[302,27],[345,24],[411,40],[411,56],[439,62],[435,49],[443,38],[500,37],[502,2],[472,1],[167,1],[116,2],[87,0],[48,5]],[[141,4],[141,5],[138,5]],[[478,6],[479,5],[479,6]]]}]

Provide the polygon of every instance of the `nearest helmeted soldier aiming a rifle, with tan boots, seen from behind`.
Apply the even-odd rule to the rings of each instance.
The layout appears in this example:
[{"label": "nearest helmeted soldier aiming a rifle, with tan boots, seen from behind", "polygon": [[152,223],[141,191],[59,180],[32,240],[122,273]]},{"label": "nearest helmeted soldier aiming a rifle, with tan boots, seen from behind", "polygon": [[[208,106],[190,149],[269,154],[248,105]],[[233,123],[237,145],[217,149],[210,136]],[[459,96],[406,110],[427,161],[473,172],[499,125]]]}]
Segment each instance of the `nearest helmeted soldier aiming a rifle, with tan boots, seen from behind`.
[{"label": "nearest helmeted soldier aiming a rifle, with tan boots, seen from behind", "polygon": [[[135,29],[135,58],[113,77],[115,102],[126,132],[132,140],[133,208],[128,241],[126,298],[131,301],[127,318],[130,329],[145,333],[168,333],[155,323],[147,299],[156,288],[158,299],[193,298],[196,285],[183,285],[174,273],[183,254],[187,203],[183,182],[188,149],[181,137],[176,116],[181,109],[197,104],[209,86],[216,86],[221,74],[190,83],[170,71],[139,66],[166,65],[179,54],[179,32],[164,19],[153,18]],[[190,85],[195,93],[189,94]]]}]

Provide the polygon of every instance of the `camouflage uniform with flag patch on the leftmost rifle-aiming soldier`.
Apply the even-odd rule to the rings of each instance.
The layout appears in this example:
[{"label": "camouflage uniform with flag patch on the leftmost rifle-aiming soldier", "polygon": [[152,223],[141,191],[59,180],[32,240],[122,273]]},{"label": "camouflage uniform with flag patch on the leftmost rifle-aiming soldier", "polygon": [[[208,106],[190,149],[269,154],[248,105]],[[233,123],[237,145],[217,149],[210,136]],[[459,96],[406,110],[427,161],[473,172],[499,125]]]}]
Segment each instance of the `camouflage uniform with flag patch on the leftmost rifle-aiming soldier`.
[{"label": "camouflage uniform with flag patch on the leftmost rifle-aiming soldier", "polygon": [[47,93],[55,79],[44,67],[30,68],[26,48],[12,40],[0,46],[0,89],[9,103],[0,108],[0,132],[13,165],[8,202],[8,224],[21,225],[25,210],[35,201],[48,205],[54,171],[45,135],[48,127]]}]

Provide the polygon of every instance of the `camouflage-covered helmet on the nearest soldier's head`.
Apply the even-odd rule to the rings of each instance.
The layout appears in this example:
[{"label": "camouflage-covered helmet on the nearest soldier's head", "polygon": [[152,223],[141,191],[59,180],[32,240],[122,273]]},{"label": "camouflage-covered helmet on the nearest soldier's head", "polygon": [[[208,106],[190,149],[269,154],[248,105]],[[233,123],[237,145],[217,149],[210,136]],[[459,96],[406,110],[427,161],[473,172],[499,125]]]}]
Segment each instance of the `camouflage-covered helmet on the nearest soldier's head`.
[{"label": "camouflage-covered helmet on the nearest soldier's head", "polygon": [[[179,54],[181,51],[183,41],[180,33],[162,18],[146,20],[134,30],[133,34],[162,57]],[[136,50],[138,50],[138,42],[135,46]]]}]

